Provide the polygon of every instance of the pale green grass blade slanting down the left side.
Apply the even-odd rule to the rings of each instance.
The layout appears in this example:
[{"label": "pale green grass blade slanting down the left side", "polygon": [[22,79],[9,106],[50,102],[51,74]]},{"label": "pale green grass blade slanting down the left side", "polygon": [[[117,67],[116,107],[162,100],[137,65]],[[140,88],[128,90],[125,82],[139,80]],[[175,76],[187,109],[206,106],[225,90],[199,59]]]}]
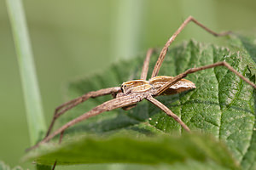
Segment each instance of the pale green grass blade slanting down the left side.
[{"label": "pale green grass blade slanting down the left side", "polygon": [[26,104],[26,119],[31,144],[36,144],[46,131],[43,107],[38,88],[32,48],[26,28],[26,18],[21,0],[6,0],[9,11],[16,54],[20,67],[20,78]]}]

